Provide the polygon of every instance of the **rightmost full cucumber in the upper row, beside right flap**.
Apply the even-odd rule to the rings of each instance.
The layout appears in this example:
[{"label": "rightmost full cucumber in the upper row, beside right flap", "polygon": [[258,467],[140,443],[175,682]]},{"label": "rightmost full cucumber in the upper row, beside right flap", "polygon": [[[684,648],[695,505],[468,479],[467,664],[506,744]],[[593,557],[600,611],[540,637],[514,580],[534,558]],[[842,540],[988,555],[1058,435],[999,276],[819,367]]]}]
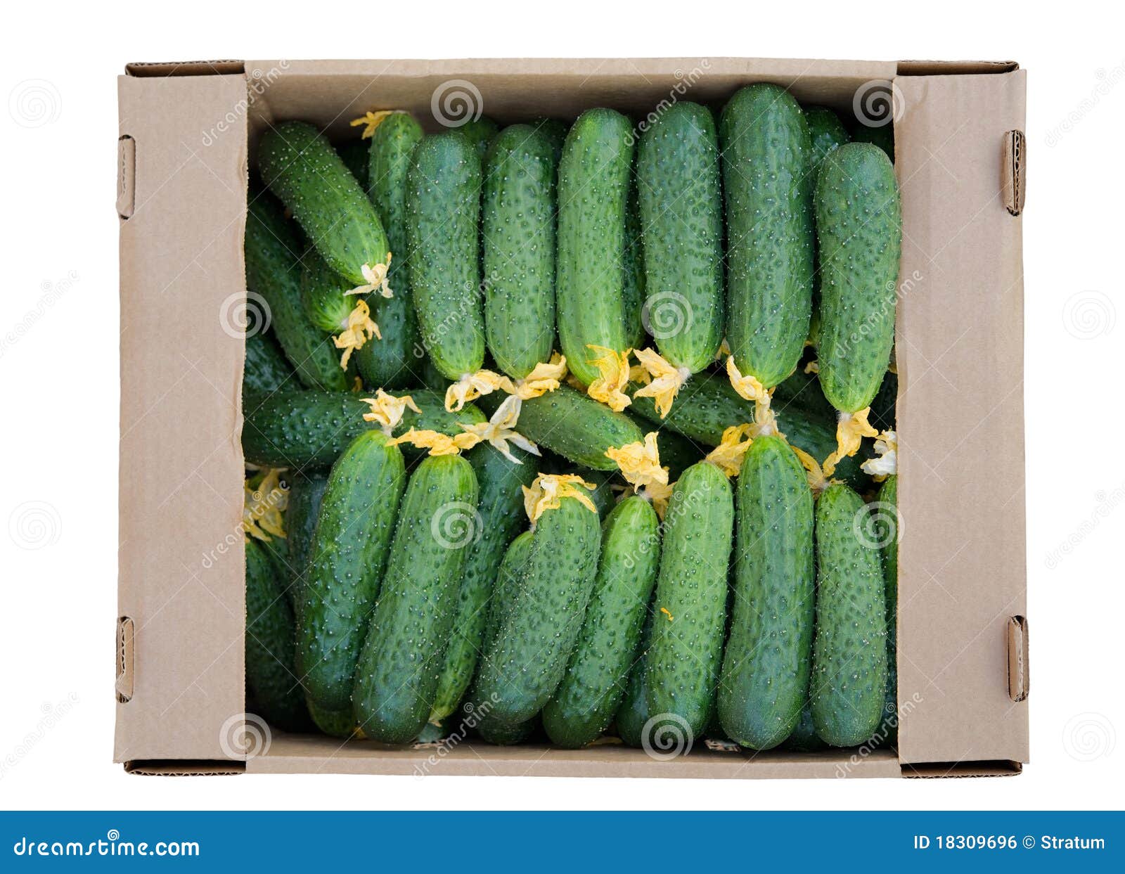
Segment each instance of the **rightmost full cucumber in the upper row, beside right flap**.
[{"label": "rightmost full cucumber in the upper row, beside right flap", "polygon": [[817,180],[825,397],[844,413],[868,406],[894,343],[902,213],[894,166],[870,143],[845,143]]}]

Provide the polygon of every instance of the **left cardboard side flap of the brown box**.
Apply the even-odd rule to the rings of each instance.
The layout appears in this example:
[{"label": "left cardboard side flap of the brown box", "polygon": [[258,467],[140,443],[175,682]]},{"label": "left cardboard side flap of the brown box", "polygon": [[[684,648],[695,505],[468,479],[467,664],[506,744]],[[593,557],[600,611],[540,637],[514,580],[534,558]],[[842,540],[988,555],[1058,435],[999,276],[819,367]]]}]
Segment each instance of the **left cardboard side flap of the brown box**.
[{"label": "left cardboard side flap of the brown box", "polygon": [[243,341],[223,330],[245,295],[244,118],[204,144],[245,94],[241,75],[118,82],[135,172],[120,223],[118,551],[133,686],[117,760],[223,758],[220,729],[245,709]]}]

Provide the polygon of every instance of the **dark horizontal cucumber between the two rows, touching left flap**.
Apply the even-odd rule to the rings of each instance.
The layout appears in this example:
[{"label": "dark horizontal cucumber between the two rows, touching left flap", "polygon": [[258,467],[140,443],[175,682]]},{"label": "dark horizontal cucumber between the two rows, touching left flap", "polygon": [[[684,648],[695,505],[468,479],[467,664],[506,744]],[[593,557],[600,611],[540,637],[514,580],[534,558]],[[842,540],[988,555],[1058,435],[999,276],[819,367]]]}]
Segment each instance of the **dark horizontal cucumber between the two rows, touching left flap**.
[{"label": "dark horizontal cucumber between the two rows, touching left flap", "polygon": [[[411,427],[453,435],[462,431],[459,423],[486,421],[474,404],[466,404],[457,413],[447,412],[443,393],[417,388],[402,394],[410,395],[422,413],[403,413],[394,436]],[[262,467],[297,471],[326,468],[359,434],[379,427],[376,422],[363,421],[363,414],[370,411],[358,395],[343,391],[251,395],[243,400],[242,452],[246,461]],[[410,448],[407,453],[415,454]]]}]

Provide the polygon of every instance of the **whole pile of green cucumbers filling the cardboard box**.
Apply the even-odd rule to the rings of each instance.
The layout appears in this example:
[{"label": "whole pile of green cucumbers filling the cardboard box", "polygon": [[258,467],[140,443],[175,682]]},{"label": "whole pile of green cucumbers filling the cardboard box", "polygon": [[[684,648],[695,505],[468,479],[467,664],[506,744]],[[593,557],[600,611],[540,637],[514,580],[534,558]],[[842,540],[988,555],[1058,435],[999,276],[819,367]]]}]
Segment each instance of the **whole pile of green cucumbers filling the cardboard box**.
[{"label": "whole pile of green cucumbers filling the cardboard box", "polygon": [[[870,432],[814,463],[853,416],[893,438],[891,155],[766,83],[639,124],[369,133],[256,150],[242,445],[286,490],[285,537],[248,529],[248,710],[389,745],[892,744],[897,477],[864,471]],[[595,399],[634,350],[664,370]],[[539,454],[453,445],[510,407],[451,386],[560,355],[518,405]],[[731,476],[709,453],[764,409],[734,369],[776,420]],[[366,416],[380,389],[400,418]],[[652,432],[656,501],[608,452]]]}]

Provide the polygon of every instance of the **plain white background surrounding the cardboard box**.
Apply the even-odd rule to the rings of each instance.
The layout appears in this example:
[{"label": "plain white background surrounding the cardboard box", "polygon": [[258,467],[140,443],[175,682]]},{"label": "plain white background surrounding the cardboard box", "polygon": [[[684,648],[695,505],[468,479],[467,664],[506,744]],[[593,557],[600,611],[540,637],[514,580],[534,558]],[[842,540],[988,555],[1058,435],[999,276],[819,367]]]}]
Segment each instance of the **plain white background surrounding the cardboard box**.
[{"label": "plain white background surrounding the cardboard box", "polygon": [[[1108,3],[889,6],[194,2],[6,11],[0,52],[0,804],[12,808],[1086,808],[1125,778],[1120,696],[1120,146],[1125,49]],[[727,6],[727,4],[723,4]],[[762,7],[763,4],[754,4]],[[846,7],[854,11],[845,11]],[[536,10],[536,11],[532,11]],[[644,11],[642,11],[644,10]],[[1035,11],[1032,11],[1035,10]],[[836,20],[838,18],[838,20]],[[1025,228],[1032,756],[946,781],[153,780],[112,764],[117,585],[116,76],[217,57],[1015,58],[1029,71]],[[46,109],[20,106],[27,80]],[[42,83],[39,83],[42,84]],[[38,87],[38,85],[36,85]],[[15,102],[14,102],[15,101]],[[1071,119],[1068,130],[1048,133]],[[1053,143],[1053,144],[1052,144]],[[1116,324],[1122,322],[1122,324]],[[153,342],[176,342],[172,336]],[[946,411],[956,414],[956,411]],[[966,422],[966,427],[971,423]],[[190,423],[186,423],[190,427]],[[990,448],[993,452],[1005,447]],[[998,484],[1000,487],[1001,484]],[[36,514],[44,528],[26,528]],[[25,526],[22,533],[11,529]],[[1063,542],[1073,549],[1047,567]],[[37,549],[27,549],[37,546]],[[982,585],[986,580],[982,580]],[[54,714],[54,715],[52,715]],[[61,714],[61,715],[60,715]],[[51,715],[51,719],[46,717]],[[57,717],[57,718],[54,718]],[[44,728],[44,723],[50,727]],[[1123,737],[1118,739],[1117,735]],[[1118,742],[1118,740],[1120,742]],[[7,758],[6,758],[7,757]]]}]

